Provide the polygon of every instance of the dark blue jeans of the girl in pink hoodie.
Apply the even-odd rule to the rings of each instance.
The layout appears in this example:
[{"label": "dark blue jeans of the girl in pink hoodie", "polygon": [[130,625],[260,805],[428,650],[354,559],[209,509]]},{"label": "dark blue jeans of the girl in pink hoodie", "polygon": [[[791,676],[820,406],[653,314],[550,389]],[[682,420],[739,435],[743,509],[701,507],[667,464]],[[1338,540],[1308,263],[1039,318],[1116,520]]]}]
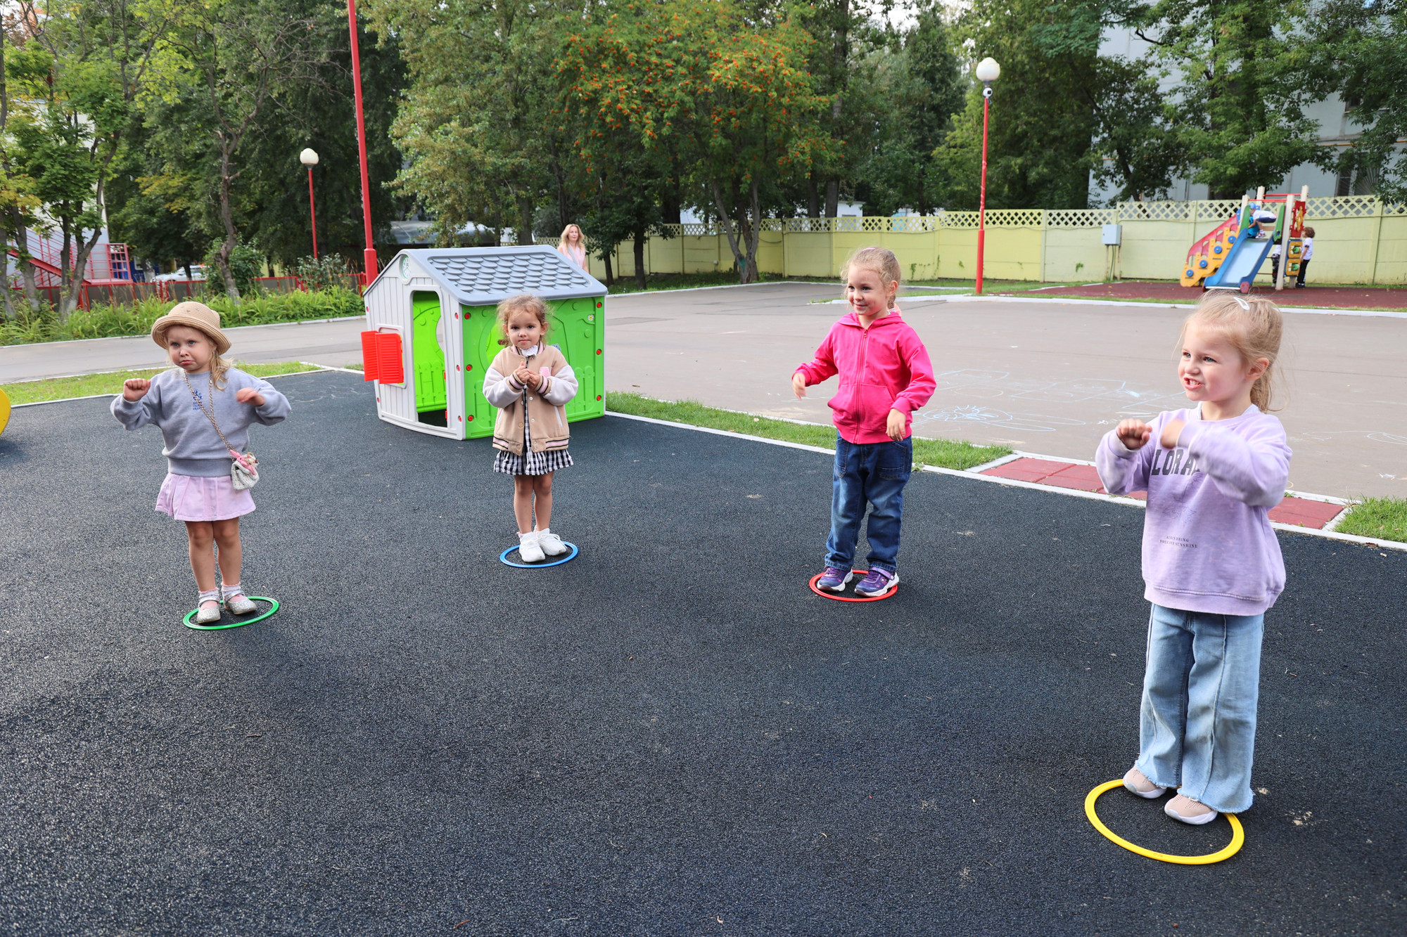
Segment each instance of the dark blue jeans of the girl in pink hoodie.
[{"label": "dark blue jeans of the girl in pink hoodie", "polygon": [[848,570],[855,564],[855,543],[865,502],[874,505],[865,537],[870,567],[898,570],[899,525],[903,518],[903,485],[913,473],[913,439],[881,443],[848,443],[836,436],[836,477],[830,495],[830,537],[826,566]]}]

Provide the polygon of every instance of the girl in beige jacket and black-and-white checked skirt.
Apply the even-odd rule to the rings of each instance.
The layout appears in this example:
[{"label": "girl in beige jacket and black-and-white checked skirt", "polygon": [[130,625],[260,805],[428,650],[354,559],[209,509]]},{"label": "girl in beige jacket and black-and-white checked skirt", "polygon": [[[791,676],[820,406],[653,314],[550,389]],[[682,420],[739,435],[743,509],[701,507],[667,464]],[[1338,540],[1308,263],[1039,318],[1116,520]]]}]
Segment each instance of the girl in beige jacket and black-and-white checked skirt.
[{"label": "girl in beige jacket and black-and-white checked skirt", "polygon": [[550,324],[540,297],[519,293],[499,302],[498,328],[498,343],[508,348],[484,374],[484,398],[499,408],[494,471],[514,477],[518,556],[523,563],[540,563],[567,552],[550,528],[552,473],[571,464],[563,407],[577,395],[577,376],[561,350],[545,343]]}]

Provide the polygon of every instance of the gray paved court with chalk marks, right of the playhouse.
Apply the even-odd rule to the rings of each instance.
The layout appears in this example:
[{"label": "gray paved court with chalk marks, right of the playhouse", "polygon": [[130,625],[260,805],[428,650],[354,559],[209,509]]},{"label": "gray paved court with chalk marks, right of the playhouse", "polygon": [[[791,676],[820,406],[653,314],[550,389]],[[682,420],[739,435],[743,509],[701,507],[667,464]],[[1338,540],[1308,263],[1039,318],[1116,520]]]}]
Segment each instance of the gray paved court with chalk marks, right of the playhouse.
[{"label": "gray paved court with chalk marks, right of the playhouse", "polygon": [[[606,387],[829,422],[836,381],[798,401],[789,376],[846,312],[825,302],[836,295],[763,284],[612,297]],[[1093,459],[1119,419],[1186,402],[1173,363],[1186,310],[962,298],[900,308],[938,373],[920,436]],[[1290,487],[1407,497],[1407,319],[1290,312],[1282,362]]]}]

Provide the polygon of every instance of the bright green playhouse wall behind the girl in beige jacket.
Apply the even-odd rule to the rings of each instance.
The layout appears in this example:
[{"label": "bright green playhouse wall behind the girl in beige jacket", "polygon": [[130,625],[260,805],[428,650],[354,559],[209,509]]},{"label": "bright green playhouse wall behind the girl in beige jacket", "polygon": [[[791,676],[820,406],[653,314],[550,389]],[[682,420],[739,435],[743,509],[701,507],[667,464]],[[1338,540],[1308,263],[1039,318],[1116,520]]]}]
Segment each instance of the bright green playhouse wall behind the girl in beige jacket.
[{"label": "bright green playhouse wall behind the girl in beige jacket", "polygon": [[[547,301],[552,324],[547,343],[561,349],[577,374],[577,395],[567,404],[567,422],[606,412],[604,301],[604,297]],[[492,436],[498,411],[484,400],[484,374],[504,348],[498,343],[498,307],[460,307],[460,318],[464,329],[464,436]]]}]

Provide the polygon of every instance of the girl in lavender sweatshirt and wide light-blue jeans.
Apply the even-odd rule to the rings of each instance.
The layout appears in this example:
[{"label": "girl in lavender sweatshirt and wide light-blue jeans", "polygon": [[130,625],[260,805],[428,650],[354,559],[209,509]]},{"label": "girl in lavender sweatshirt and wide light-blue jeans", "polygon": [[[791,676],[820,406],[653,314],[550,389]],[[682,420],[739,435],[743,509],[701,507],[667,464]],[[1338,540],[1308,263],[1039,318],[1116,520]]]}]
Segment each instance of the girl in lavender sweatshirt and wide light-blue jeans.
[{"label": "girl in lavender sweatshirt and wide light-blue jeans", "polygon": [[1110,494],[1148,492],[1148,663],[1138,761],[1124,786],[1178,788],[1164,812],[1209,823],[1251,806],[1265,609],[1285,588],[1266,512],[1285,497],[1290,447],[1265,412],[1280,311],[1209,293],[1182,326],[1178,377],[1190,409],[1126,419],[1099,443]]}]

